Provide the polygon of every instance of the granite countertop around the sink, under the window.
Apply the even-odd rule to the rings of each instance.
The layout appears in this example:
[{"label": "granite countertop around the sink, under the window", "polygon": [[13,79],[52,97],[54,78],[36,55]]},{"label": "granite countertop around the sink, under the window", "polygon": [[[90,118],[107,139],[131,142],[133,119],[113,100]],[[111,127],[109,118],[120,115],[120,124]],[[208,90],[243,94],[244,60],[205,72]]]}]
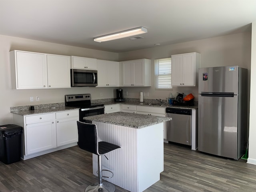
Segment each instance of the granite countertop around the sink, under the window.
[{"label": "granite countertop around the sink, under the window", "polygon": [[113,104],[126,104],[126,105],[139,105],[139,106],[151,106],[151,107],[170,107],[170,108],[178,108],[178,109],[198,109],[198,105],[195,106],[174,106],[174,105],[168,105],[167,103],[148,103],[148,102],[130,102],[130,101],[124,101],[124,102],[105,102],[104,105],[113,105]]}]

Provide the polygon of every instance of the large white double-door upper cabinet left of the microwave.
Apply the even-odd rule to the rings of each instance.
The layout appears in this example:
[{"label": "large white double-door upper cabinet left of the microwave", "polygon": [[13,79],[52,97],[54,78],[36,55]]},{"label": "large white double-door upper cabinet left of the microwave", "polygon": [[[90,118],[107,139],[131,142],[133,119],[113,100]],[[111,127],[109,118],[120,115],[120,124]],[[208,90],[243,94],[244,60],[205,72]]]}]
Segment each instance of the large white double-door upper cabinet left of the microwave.
[{"label": "large white double-door upper cabinet left of the microwave", "polygon": [[69,88],[70,56],[10,52],[13,89]]}]

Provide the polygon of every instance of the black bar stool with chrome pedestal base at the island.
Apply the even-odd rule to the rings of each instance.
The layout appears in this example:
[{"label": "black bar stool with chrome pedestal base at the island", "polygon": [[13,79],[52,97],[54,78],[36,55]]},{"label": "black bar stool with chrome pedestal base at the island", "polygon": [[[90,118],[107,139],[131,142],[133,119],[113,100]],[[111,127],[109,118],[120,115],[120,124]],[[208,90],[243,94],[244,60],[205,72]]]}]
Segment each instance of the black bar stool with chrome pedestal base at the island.
[{"label": "black bar stool with chrome pedestal base at the island", "polygon": [[[106,181],[102,182],[102,177],[112,178],[114,174],[109,170],[101,169],[101,156],[120,148],[120,146],[104,141],[98,142],[97,126],[95,124],[88,124],[78,121],[77,127],[78,146],[81,149],[98,156],[98,183],[88,186],[85,189],[85,192],[114,192],[116,188],[112,183]],[[112,176],[102,176],[102,171],[109,171],[112,173]]]}]

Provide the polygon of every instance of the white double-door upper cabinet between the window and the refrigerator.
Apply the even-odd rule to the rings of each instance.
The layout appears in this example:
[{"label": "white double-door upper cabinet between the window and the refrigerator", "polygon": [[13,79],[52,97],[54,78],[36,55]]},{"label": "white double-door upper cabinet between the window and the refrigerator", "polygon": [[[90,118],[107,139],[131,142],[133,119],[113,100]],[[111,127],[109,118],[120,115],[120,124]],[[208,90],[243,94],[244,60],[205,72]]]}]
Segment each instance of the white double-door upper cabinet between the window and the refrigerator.
[{"label": "white double-door upper cabinet between the window and the refrigerator", "polygon": [[199,53],[172,55],[172,86],[196,86]]}]

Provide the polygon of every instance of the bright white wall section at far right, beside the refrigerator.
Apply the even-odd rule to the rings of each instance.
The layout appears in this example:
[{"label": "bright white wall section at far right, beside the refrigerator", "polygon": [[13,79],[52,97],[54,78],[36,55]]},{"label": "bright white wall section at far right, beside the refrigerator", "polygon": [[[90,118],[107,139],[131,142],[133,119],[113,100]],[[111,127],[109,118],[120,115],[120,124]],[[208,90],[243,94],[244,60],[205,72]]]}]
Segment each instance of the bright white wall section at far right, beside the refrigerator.
[{"label": "bright white wall section at far right, beside the refrigerator", "polygon": [[252,23],[252,57],[251,57],[251,87],[250,94],[252,100],[250,101],[250,121],[249,121],[249,157],[247,162],[256,164],[256,100],[254,99],[256,94],[256,21]]}]

